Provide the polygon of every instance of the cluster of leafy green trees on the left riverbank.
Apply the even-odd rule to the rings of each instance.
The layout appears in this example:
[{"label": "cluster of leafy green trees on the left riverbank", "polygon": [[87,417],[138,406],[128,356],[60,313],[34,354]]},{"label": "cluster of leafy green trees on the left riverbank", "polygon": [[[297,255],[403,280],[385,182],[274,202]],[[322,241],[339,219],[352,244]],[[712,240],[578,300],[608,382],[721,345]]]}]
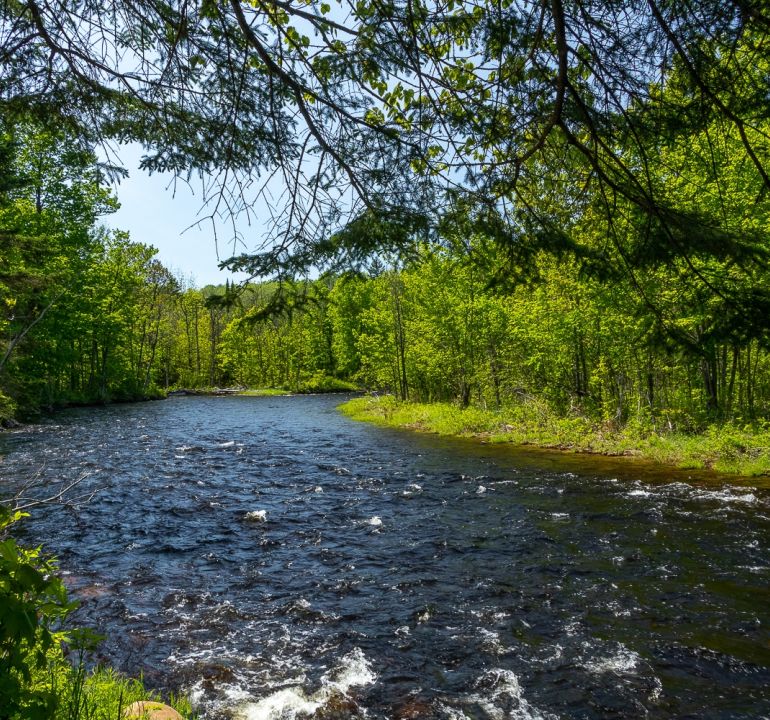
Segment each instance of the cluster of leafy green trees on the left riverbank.
[{"label": "cluster of leafy green trees on the left riverbank", "polygon": [[97,226],[116,203],[70,135],[22,123],[0,147],[13,180],[0,202],[0,417],[160,396],[177,281],[154,248]]}]

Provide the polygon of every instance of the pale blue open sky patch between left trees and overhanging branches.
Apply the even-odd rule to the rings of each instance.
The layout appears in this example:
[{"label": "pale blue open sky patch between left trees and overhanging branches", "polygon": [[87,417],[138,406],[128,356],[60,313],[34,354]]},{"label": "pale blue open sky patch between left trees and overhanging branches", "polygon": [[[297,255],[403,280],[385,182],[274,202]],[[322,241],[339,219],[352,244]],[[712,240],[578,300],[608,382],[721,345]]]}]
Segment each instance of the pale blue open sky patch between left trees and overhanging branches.
[{"label": "pale blue open sky patch between left trees and overhanging branches", "polygon": [[[120,210],[102,218],[110,228],[127,230],[131,240],[158,249],[157,258],[177,277],[192,280],[196,287],[224,284],[226,279],[243,276],[219,270],[221,260],[256,247],[263,232],[245,222],[238,226],[244,237],[233,251],[232,227],[221,222],[217,228],[218,247],[211,222],[203,219],[202,193],[199,180],[190,185],[169,174],[149,175],[139,169],[141,149],[127,146],[120,150],[120,162],[129,177],[115,185]],[[194,224],[203,219],[199,226]],[[193,226],[193,227],[191,227]]]}]

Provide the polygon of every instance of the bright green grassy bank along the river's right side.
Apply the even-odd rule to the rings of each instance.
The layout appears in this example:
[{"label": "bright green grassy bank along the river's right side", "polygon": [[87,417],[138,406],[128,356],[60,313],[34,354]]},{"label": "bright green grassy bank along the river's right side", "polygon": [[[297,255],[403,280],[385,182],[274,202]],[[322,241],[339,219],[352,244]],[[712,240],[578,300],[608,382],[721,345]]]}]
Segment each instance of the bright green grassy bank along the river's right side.
[{"label": "bright green grassy bank along the river's right side", "polygon": [[614,429],[583,416],[559,417],[536,402],[500,411],[448,403],[398,402],[392,396],[354,398],[339,410],[354,420],[485,443],[510,443],[571,453],[625,456],[682,469],[730,475],[770,475],[770,431],[734,424],[684,433],[652,425]]}]

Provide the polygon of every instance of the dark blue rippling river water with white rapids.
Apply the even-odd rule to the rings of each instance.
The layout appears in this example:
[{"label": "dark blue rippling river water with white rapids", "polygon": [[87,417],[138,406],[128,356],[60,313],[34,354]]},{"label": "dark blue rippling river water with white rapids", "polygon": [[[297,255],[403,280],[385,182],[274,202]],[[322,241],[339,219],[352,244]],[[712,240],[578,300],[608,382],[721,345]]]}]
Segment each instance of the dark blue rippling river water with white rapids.
[{"label": "dark blue rippling river water with white rapids", "polygon": [[[770,491],[173,398],[0,436],[97,659],[204,718],[770,717]],[[593,469],[591,469],[593,468]],[[42,491],[38,491],[42,492]]]}]

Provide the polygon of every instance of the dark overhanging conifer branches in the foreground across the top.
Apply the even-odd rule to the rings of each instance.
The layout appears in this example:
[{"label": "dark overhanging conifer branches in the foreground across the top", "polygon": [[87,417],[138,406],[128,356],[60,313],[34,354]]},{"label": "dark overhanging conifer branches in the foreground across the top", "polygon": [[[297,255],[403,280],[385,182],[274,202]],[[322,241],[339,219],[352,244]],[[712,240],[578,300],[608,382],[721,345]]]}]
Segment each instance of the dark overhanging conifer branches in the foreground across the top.
[{"label": "dark overhanging conifer branches in the foreground across the top", "polygon": [[0,23],[4,118],[141,142],[148,170],[203,173],[212,213],[281,176],[271,236],[235,260],[257,275],[328,262],[362,213],[395,218],[399,246],[416,215],[459,213],[519,262],[574,250],[589,203],[610,239],[627,206],[630,266],[755,254],[718,210],[673,203],[659,159],[731,138],[770,188],[765,2],[5,0]]}]

